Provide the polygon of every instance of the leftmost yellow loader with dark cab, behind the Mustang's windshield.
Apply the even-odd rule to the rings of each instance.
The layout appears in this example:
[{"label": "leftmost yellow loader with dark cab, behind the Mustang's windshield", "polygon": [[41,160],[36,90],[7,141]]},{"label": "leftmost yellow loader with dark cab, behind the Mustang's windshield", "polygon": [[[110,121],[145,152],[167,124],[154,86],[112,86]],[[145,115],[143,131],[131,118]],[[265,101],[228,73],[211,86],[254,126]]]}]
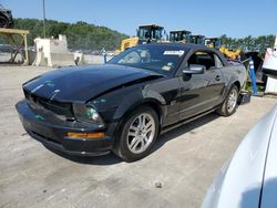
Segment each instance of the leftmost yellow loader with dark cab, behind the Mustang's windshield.
[{"label": "leftmost yellow loader with dark cab, behind the Mustang's windshield", "polygon": [[124,39],[121,42],[121,49],[115,51],[119,54],[126,49],[135,46],[137,44],[145,44],[151,42],[160,42],[163,40],[165,33],[164,28],[157,24],[140,25],[136,30],[136,37]]}]

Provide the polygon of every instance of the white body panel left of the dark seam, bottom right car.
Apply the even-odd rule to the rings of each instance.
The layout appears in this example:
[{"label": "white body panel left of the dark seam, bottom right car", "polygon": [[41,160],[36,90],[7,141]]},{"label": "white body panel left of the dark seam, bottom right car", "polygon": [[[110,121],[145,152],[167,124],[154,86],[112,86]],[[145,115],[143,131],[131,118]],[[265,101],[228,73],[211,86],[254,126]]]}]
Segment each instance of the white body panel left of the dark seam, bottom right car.
[{"label": "white body panel left of the dark seam, bottom right car", "polygon": [[[259,207],[267,149],[276,114],[277,105],[249,131],[233,159],[214,179],[203,208]],[[274,171],[276,173],[276,168]]]}]

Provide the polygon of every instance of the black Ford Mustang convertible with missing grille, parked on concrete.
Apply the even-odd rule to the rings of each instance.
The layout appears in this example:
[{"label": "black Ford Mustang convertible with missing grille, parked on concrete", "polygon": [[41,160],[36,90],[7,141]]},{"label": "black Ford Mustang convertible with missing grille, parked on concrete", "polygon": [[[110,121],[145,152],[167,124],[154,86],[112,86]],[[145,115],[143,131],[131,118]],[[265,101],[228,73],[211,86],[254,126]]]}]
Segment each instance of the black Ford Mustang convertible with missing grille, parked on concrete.
[{"label": "black Ford Mustang convertible with missing grille, parked on concrete", "polygon": [[145,157],[160,133],[217,111],[236,111],[246,70],[202,45],[129,49],[104,65],[55,70],[23,84],[17,104],[25,131],[75,155],[113,150]]}]

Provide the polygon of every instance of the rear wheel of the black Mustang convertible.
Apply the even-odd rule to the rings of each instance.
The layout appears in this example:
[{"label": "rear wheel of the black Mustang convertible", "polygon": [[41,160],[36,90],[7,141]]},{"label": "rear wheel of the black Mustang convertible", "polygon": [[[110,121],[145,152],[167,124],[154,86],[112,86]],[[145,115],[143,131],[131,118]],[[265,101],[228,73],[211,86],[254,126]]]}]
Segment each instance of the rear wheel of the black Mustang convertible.
[{"label": "rear wheel of the black Mustang convertible", "polygon": [[236,112],[238,101],[238,89],[236,85],[232,85],[228,95],[226,96],[222,106],[217,110],[217,113],[223,116],[230,116]]}]

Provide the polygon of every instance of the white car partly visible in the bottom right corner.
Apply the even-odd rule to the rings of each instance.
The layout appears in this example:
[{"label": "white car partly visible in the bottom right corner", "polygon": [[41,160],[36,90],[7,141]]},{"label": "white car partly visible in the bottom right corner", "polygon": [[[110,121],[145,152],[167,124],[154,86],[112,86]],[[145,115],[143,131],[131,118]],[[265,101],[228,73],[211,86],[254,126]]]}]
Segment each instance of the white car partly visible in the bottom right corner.
[{"label": "white car partly visible in the bottom right corner", "polygon": [[277,207],[277,105],[256,124],[214,178],[203,208]]}]

